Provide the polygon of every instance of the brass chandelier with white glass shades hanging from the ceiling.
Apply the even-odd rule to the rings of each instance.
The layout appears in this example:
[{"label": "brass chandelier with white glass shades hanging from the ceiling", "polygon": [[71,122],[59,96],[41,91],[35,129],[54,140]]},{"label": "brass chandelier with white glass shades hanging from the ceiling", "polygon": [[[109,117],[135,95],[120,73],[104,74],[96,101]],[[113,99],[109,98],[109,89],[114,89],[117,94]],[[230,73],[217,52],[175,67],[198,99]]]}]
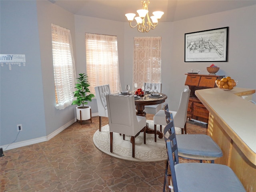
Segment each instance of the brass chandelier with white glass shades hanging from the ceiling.
[{"label": "brass chandelier with white glass shades hanging from the ceiling", "polygon": [[[138,17],[135,17],[135,13],[127,13],[125,14],[127,20],[130,22],[130,26],[132,28],[138,27],[139,32],[149,32],[150,29],[156,28],[158,24],[158,20],[162,17],[164,12],[162,11],[155,11],[153,12],[154,16],[151,16],[151,20],[148,16],[148,5],[149,5],[149,0],[144,0],[141,1],[141,4],[143,4],[142,9],[137,10],[137,13],[139,14]],[[135,17],[135,20],[137,22],[136,26],[132,26],[132,21]]]}]

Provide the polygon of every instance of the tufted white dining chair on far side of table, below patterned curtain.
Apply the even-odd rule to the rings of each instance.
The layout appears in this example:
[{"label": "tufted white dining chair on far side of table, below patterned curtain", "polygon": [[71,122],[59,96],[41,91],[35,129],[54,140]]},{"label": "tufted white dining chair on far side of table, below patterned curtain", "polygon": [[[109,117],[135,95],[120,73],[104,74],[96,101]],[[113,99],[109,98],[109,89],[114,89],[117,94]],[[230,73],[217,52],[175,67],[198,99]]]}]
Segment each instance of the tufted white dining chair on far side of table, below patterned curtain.
[{"label": "tufted white dining chair on far side of table, below patterned curtain", "polygon": [[[162,93],[162,83],[144,83],[144,90],[150,92]],[[144,111],[148,114],[156,114],[162,109],[162,104],[146,105]]]}]

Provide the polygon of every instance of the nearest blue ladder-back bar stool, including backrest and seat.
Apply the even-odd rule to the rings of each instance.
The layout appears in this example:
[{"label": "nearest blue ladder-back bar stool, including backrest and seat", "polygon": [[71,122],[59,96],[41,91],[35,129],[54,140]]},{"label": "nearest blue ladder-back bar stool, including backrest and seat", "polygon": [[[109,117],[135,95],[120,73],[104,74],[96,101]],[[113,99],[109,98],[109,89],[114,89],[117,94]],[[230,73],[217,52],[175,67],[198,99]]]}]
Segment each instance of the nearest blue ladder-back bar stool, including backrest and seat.
[{"label": "nearest blue ladder-back bar stool, including backrest and seat", "polygon": [[[164,128],[168,160],[163,192],[168,185],[168,176],[172,177],[168,186],[173,188],[174,192],[246,192],[236,174],[226,165],[212,163],[179,164],[178,150],[180,150],[180,146],[178,145],[180,144],[178,144],[176,136],[178,135],[175,134],[174,122],[170,121]],[[207,137],[202,139],[208,140]],[[197,139],[197,141],[199,140]],[[207,151],[204,148],[202,146],[202,150]],[[168,167],[171,175],[168,175]]]}]

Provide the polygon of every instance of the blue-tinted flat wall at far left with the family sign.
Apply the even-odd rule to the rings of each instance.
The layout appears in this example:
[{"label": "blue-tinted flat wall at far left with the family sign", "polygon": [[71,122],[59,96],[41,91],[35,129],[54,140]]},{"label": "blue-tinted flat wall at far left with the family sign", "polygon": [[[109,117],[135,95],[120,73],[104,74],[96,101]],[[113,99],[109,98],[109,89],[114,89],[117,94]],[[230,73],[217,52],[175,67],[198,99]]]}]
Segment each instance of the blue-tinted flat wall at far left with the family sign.
[{"label": "blue-tinted flat wall at far left with the family sign", "polygon": [[[26,65],[0,66],[0,144],[46,135],[36,1],[0,1],[1,54],[25,54]],[[5,148],[3,148],[5,150]]]}]

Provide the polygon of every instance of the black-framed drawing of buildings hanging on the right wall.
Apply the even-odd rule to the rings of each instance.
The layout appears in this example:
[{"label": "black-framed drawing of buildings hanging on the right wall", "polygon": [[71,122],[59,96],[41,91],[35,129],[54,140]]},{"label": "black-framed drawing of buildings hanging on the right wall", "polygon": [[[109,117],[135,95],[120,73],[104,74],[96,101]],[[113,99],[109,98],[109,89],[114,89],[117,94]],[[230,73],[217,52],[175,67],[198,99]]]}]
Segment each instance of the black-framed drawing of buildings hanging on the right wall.
[{"label": "black-framed drawing of buildings hanging on the right wall", "polygon": [[185,62],[227,62],[228,27],[185,34]]}]

